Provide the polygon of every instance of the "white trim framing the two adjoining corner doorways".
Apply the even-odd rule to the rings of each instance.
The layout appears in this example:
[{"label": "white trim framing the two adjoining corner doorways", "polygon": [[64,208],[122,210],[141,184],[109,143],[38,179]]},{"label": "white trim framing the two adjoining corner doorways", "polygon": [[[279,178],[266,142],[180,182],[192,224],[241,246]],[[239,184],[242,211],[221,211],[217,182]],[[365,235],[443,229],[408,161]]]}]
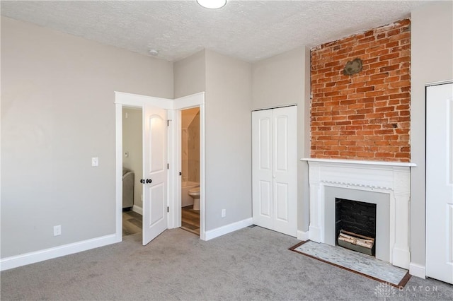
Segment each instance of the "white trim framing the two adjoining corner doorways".
[{"label": "white trim framing the two adjoining corner doorways", "polygon": [[[115,91],[115,241],[122,241],[122,108],[139,107],[144,112],[144,105],[153,105],[167,110],[168,124],[168,213],[167,228],[179,228],[181,225],[181,151],[178,149],[180,139],[180,110],[200,107],[200,238],[205,240],[205,93],[196,93],[175,100],[155,98],[145,95]],[[179,158],[179,160],[178,160]]]}]

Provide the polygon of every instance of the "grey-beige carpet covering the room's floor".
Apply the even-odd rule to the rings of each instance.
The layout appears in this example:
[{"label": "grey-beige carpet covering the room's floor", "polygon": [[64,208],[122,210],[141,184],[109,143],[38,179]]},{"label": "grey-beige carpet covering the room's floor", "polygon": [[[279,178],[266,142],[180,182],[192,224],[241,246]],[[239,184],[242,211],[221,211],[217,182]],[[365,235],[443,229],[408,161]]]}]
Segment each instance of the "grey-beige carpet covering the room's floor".
[{"label": "grey-beige carpet covering the room's floor", "polygon": [[[288,248],[294,237],[244,228],[204,242],[166,230],[147,246],[140,235],[118,244],[1,272],[1,300],[384,300],[369,278]],[[428,297],[399,292],[387,300],[452,300],[453,286],[412,277],[406,287],[437,287]],[[414,297],[415,293],[415,297]]]}]

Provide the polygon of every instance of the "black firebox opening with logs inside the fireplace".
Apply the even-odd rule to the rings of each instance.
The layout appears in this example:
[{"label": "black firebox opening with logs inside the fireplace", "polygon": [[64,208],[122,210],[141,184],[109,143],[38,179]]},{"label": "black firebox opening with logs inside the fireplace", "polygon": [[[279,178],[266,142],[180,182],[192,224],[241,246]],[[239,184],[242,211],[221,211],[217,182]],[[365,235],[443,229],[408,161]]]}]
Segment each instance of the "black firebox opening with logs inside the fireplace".
[{"label": "black firebox opening with logs inside the fireplace", "polygon": [[374,256],[376,239],[375,203],[336,198],[335,220],[336,244]]}]

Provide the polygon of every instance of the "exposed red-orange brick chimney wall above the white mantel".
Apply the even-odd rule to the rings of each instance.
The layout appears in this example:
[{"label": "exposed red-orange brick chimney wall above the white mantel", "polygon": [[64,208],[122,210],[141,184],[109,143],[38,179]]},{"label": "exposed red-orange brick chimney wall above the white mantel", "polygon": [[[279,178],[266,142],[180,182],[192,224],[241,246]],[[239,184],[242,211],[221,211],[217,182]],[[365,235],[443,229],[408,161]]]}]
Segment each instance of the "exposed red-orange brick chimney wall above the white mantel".
[{"label": "exposed red-orange brick chimney wall above the white mantel", "polygon": [[311,95],[311,158],[409,162],[411,20],[311,49]]}]

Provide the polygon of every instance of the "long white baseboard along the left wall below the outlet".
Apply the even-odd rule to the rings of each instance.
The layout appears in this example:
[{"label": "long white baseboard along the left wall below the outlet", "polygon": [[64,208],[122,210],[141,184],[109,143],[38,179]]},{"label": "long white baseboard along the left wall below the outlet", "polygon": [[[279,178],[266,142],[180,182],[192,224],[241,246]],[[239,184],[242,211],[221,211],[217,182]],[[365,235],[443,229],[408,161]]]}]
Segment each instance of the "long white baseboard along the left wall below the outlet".
[{"label": "long white baseboard along the left wall below the outlet", "polygon": [[47,259],[74,254],[97,247],[103,247],[107,244],[115,244],[116,242],[121,241],[122,237],[117,238],[115,234],[112,234],[92,238],[91,240],[84,240],[82,242],[64,244],[50,249],[43,249],[40,251],[5,257],[0,259],[0,271],[6,271],[10,268],[17,268],[18,266],[25,266],[27,264],[35,264],[36,262],[45,261]]}]

